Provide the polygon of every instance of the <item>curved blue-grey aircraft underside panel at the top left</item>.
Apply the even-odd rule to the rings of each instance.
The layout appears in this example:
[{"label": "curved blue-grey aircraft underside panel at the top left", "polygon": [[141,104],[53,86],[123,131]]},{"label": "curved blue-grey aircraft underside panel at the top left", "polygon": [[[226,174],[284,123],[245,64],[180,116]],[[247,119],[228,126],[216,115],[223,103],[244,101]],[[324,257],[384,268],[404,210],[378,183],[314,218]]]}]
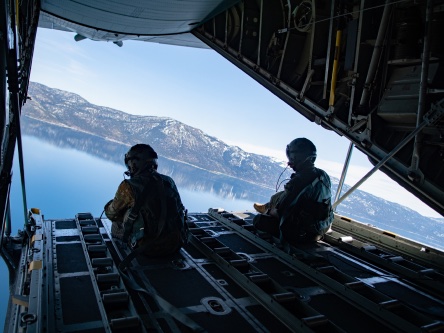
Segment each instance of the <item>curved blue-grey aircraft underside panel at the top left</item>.
[{"label": "curved blue-grey aircraft underside panel at the top left", "polygon": [[151,41],[206,48],[189,32],[238,0],[41,1],[39,27],[76,32],[76,40]]}]

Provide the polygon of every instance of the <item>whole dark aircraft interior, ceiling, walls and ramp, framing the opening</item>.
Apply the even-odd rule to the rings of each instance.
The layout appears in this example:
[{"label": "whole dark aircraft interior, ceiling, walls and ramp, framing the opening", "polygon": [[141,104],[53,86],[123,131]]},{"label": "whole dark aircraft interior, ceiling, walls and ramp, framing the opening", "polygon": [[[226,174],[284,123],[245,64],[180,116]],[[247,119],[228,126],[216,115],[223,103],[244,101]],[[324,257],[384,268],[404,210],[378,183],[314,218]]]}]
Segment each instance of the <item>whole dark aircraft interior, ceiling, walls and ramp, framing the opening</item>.
[{"label": "whole dark aircraft interior, ceiling, walls and ramp, framing the opening", "polygon": [[368,156],[373,169],[334,207],[381,170],[444,213],[444,0],[165,3],[0,5],[5,331],[443,332],[443,252],[345,217],[315,245],[284,249],[252,229],[251,213],[210,209],[189,215],[190,240],[176,257],[136,258],[123,271],[129,249],[88,213],[34,213],[9,236],[14,156],[25,178],[20,118],[37,27],[118,46],[211,48]]}]

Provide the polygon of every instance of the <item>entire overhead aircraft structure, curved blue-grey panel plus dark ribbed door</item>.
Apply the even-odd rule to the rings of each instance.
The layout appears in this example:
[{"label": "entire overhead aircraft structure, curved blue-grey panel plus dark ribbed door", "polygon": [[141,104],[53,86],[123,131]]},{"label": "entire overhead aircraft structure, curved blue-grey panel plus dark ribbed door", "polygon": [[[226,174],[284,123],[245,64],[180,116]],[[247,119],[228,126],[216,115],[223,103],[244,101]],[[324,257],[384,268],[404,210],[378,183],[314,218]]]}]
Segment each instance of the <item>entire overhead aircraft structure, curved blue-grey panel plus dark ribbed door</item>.
[{"label": "entire overhead aircraft structure, curved blue-grey panel plus dark ribbed door", "polygon": [[216,50],[444,212],[443,0],[42,0],[41,10],[39,27],[77,41]]}]

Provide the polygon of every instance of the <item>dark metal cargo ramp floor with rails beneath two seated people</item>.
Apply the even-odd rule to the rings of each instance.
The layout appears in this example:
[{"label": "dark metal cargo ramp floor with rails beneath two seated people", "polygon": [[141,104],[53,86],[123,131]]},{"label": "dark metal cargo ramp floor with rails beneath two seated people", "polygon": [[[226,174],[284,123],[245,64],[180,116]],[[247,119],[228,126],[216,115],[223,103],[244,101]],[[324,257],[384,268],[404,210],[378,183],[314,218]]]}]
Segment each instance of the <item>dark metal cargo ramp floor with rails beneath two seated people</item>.
[{"label": "dark metal cargo ramp floor with rails beneath two seated people", "polygon": [[189,214],[180,253],[119,269],[109,220],[33,214],[5,332],[444,332],[442,252],[340,216],[284,249],[252,216]]}]

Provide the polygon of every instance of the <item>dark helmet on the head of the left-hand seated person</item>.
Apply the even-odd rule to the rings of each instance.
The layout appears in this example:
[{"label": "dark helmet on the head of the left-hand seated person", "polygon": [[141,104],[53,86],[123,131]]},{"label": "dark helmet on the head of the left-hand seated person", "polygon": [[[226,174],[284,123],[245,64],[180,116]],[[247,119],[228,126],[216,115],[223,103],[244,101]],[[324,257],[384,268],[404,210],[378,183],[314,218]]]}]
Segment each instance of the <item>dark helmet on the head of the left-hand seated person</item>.
[{"label": "dark helmet on the head of the left-hand seated person", "polygon": [[125,174],[131,177],[145,170],[157,170],[157,153],[150,145],[137,144],[125,154],[125,165]]}]

